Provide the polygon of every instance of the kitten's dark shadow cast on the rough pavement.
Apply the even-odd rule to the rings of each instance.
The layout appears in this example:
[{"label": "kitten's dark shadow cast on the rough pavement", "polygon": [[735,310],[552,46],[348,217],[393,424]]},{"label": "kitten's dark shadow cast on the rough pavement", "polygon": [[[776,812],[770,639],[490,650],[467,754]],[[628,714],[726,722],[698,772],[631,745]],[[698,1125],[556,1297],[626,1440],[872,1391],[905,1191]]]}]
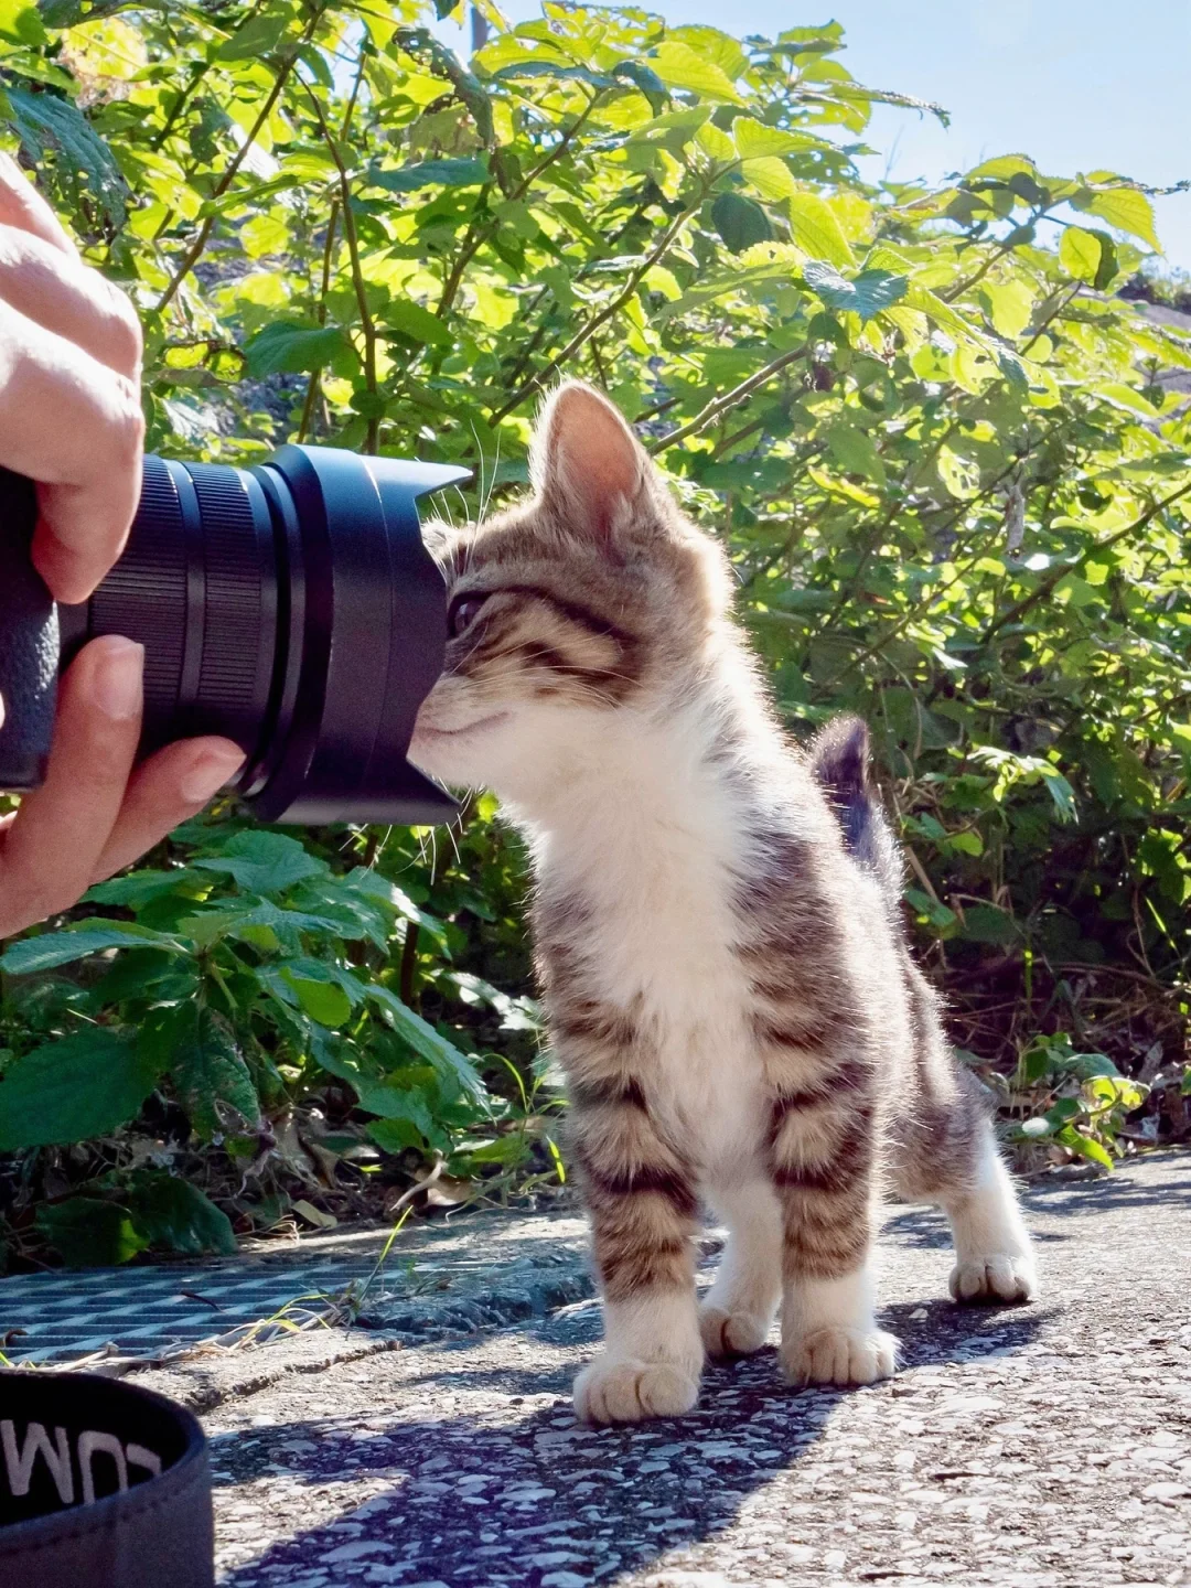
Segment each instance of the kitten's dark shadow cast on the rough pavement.
[{"label": "kitten's dark shadow cast on the rough pavement", "polygon": [[[961,1309],[950,1302],[886,1307],[881,1321],[904,1343],[904,1366],[978,1361],[1026,1345],[1045,1309]],[[224,1588],[284,1588],[343,1580],[348,1555],[364,1582],[443,1583],[446,1588],[540,1588],[543,1583],[615,1583],[673,1550],[694,1547],[729,1528],[742,1505],[783,1469],[813,1450],[837,1404],[853,1391],[789,1391],[775,1350],[708,1367],[699,1409],[689,1416],[638,1428],[583,1429],[570,1418],[569,1380],[559,1345],[592,1347],[599,1309],[569,1309],[562,1318],[524,1331],[513,1366],[476,1372],[473,1342],[448,1343],[418,1390],[440,1397],[500,1396],[491,1418],[443,1416],[360,1437],[353,1418],[252,1428],[213,1440],[224,1483],[245,1483],[289,1464],[287,1445],[302,1445],[294,1477],[311,1485],[395,1478],[367,1504],[340,1512],[267,1548],[222,1578]],[[540,1343],[538,1363],[534,1343]],[[549,1363],[549,1358],[554,1363]],[[897,1385],[899,1382],[894,1380]],[[500,1412],[521,1394],[556,1391],[559,1399],[518,1421]],[[889,1394],[886,1388],[864,1391]],[[891,1420],[897,1409],[889,1402]],[[375,1423],[373,1423],[375,1426]],[[364,1485],[362,1485],[364,1486]],[[292,1490],[289,1490],[292,1494]]]}]

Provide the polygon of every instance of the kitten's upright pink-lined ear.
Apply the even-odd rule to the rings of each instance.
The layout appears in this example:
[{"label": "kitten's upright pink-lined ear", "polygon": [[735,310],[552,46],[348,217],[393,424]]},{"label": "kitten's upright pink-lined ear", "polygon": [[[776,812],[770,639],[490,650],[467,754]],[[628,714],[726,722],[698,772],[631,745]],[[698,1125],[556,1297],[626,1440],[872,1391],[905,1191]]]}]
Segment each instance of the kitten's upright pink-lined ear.
[{"label": "kitten's upright pink-lined ear", "polygon": [[567,381],[542,410],[530,478],[565,527],[608,543],[646,494],[649,461],[618,410],[591,386]]}]

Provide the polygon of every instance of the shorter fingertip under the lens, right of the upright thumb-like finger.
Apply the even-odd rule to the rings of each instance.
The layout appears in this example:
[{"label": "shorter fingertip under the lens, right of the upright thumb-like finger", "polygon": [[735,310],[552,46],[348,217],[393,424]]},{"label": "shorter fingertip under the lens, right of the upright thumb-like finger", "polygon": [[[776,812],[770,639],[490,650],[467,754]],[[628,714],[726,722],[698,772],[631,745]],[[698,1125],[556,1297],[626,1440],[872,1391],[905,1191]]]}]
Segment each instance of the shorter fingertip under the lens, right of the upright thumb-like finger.
[{"label": "shorter fingertip under the lens, right of the upright thumb-like finger", "polygon": [[132,775],[92,881],[132,865],[179,823],[195,816],[243,764],[245,753],[230,738],[183,738],[149,756]]}]

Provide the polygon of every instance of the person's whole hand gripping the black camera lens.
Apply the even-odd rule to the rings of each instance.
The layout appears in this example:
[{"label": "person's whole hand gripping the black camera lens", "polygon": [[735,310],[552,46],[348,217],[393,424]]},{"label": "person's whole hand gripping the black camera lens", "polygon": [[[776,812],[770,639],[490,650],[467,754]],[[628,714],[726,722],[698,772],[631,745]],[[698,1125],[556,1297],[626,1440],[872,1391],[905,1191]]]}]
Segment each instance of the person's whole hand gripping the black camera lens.
[{"label": "person's whole hand gripping the black camera lens", "polygon": [[[0,154],[0,465],[38,483],[33,562],[57,600],[86,600],[124,549],[141,481],[140,362],[129,300]],[[192,738],[133,770],[143,661],[105,635],[64,676],[46,781],[0,819],[0,937],[70,908],[243,762],[230,740]]]}]

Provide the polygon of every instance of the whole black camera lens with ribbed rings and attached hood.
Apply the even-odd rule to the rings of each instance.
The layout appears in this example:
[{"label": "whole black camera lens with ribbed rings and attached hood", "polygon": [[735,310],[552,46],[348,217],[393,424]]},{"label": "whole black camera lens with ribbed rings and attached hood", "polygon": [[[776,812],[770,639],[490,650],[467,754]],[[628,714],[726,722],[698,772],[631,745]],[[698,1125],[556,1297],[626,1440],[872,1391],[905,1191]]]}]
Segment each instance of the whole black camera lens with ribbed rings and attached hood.
[{"label": "whole black camera lens with ribbed rings and attached hood", "polygon": [[121,561],[59,610],[64,661],[140,640],[141,750],[235,740],[265,821],[443,821],[454,802],[405,759],[446,645],[416,500],[467,478],[314,446],[254,468],[146,457]]}]

